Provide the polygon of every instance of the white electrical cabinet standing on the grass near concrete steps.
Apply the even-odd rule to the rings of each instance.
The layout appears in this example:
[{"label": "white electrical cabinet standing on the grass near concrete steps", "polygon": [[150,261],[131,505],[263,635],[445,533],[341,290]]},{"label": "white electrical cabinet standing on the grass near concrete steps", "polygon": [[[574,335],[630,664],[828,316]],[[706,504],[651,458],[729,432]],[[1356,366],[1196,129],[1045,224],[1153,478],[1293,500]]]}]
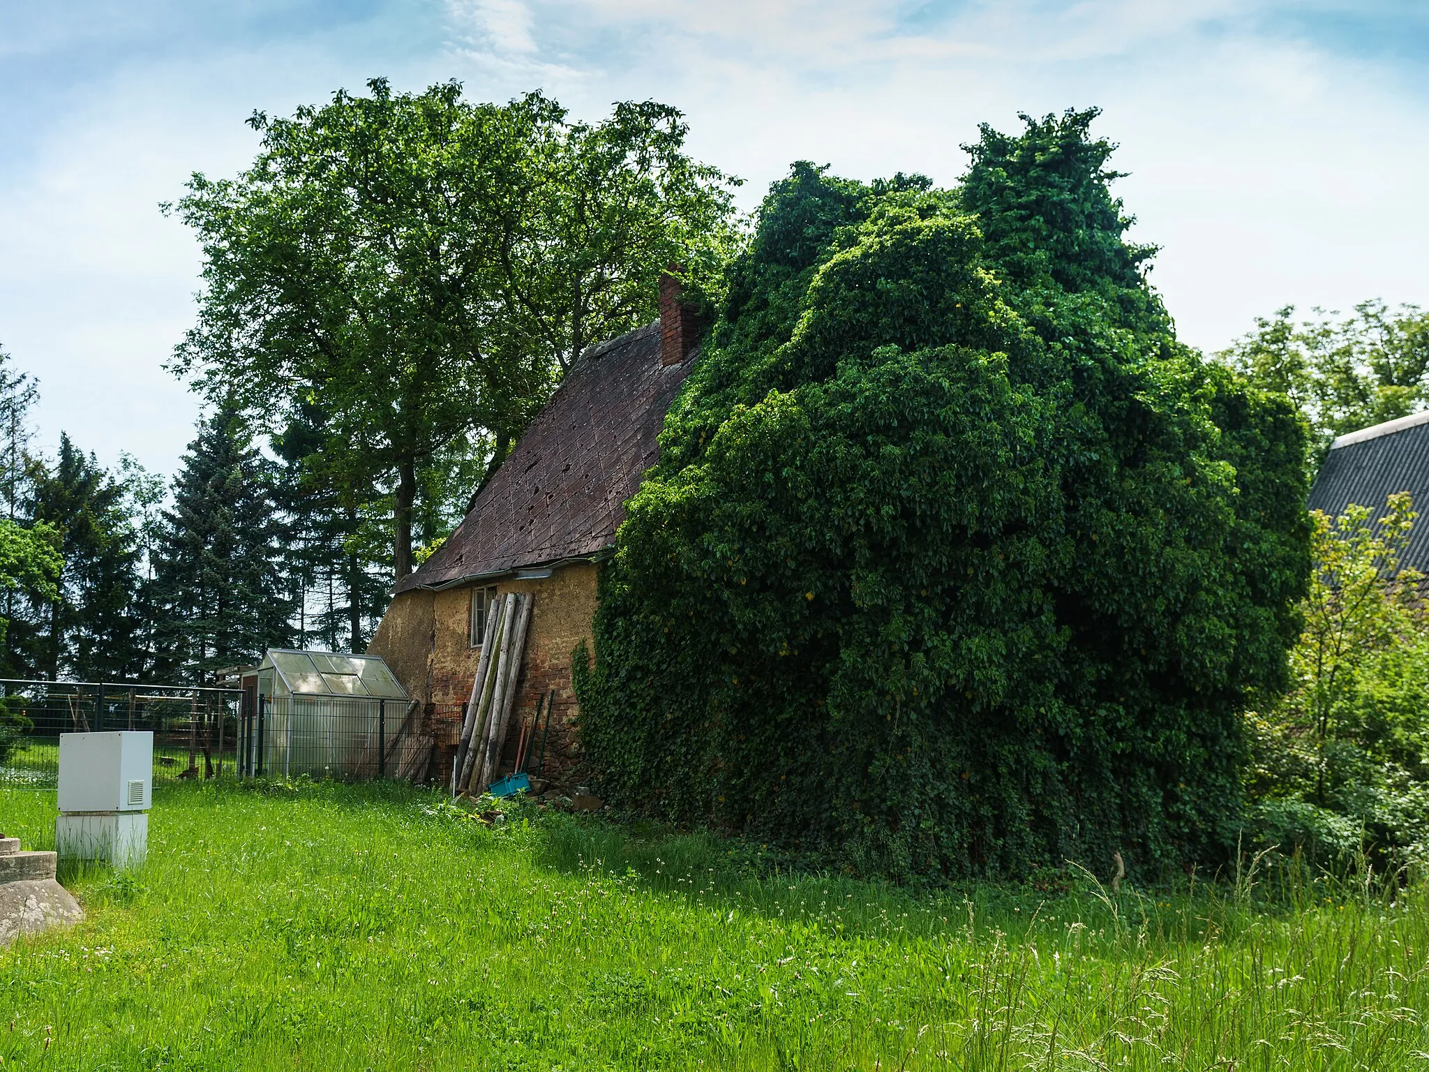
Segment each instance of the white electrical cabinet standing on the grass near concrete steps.
[{"label": "white electrical cabinet standing on the grass near concrete steps", "polygon": [[60,815],[54,848],[63,858],[144,862],[153,799],[154,735],[136,730],[60,735]]}]

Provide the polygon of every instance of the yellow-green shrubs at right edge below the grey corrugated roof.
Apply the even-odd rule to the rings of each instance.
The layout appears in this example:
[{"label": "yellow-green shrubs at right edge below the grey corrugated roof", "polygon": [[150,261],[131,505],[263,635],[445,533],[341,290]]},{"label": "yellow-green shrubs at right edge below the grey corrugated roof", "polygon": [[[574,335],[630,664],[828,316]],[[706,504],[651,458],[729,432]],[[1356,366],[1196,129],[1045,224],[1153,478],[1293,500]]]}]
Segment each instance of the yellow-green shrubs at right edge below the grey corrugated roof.
[{"label": "yellow-green shrubs at right edge below the grey corrugated roof", "polygon": [[1368,845],[1429,863],[1429,613],[1423,577],[1399,566],[1413,503],[1399,493],[1378,519],[1353,505],[1310,517],[1293,688],[1249,715],[1253,829],[1320,858]]}]

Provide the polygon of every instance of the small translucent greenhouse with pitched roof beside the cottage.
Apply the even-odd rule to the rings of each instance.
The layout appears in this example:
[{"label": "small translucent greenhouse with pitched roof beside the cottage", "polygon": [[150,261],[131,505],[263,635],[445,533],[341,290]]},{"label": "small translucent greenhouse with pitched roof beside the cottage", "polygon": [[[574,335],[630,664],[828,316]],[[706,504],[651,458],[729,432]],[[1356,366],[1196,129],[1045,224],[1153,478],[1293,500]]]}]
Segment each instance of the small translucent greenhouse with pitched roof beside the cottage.
[{"label": "small translucent greenhouse with pitched roof beside the cottage", "polygon": [[243,672],[244,768],[250,773],[377,778],[409,696],[374,655],[273,647]]}]

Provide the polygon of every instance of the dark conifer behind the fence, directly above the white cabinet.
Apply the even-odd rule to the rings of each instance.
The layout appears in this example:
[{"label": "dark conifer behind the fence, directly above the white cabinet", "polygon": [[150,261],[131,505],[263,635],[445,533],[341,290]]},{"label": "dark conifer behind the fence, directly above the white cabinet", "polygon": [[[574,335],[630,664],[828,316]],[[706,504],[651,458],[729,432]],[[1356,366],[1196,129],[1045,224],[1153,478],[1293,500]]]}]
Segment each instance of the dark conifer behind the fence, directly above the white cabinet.
[{"label": "dark conifer behind the fence, directly above the white cabinet", "polygon": [[61,435],[53,467],[34,487],[34,520],[63,539],[59,599],[49,605],[37,652],[50,678],[126,679],[140,670],[133,615],[139,550],[127,506],[124,486]]}]

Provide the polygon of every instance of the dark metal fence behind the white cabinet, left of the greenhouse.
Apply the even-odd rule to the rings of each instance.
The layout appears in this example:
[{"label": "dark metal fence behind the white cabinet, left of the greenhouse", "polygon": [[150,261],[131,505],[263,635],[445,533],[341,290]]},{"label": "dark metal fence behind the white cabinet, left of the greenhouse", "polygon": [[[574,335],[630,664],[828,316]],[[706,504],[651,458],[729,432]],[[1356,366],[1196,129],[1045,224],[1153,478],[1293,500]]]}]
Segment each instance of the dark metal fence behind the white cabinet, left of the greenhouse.
[{"label": "dark metal fence behind the white cabinet, left of the greenhouse", "polygon": [[54,789],[60,735],[154,735],[154,780],[239,772],[243,693],[189,685],[0,679],[0,786]]}]

